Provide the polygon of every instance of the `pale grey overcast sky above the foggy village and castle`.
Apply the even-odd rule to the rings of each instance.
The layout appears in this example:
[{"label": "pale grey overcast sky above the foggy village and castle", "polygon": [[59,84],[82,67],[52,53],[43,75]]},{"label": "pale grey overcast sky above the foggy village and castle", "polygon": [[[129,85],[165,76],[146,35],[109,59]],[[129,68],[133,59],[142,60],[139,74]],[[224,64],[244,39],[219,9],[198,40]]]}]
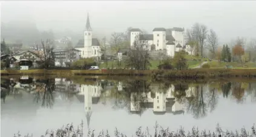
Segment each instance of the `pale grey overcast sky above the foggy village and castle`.
[{"label": "pale grey overcast sky above the foggy village and castle", "polygon": [[256,37],[256,1],[4,1],[1,21],[26,19],[39,30],[85,28],[87,12],[93,31],[110,35],[127,27],[152,33],[155,27],[190,28],[205,24],[221,42],[232,37]]}]

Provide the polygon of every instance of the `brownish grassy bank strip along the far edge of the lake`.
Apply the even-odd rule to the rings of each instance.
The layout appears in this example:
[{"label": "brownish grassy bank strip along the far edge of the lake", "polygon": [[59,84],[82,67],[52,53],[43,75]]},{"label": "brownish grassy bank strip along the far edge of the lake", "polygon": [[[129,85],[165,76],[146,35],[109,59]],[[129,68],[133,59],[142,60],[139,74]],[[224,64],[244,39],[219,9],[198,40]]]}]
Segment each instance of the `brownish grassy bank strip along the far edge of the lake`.
[{"label": "brownish grassy bank strip along the far edge of the lake", "polygon": [[132,69],[106,69],[106,70],[1,70],[1,75],[59,75],[70,77],[74,75],[116,75],[116,76],[149,76],[153,78],[222,78],[245,77],[255,78],[256,69],[188,69],[188,70],[132,70]]}]

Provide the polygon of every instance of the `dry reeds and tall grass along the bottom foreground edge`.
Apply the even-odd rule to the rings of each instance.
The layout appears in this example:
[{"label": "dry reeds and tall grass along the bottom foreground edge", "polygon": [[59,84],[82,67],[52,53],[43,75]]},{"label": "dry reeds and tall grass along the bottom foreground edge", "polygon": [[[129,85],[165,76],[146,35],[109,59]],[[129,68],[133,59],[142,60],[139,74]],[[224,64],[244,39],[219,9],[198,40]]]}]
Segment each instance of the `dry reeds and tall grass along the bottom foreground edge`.
[{"label": "dry reeds and tall grass along the bottom foreground edge", "polygon": [[[60,129],[57,129],[56,131],[51,130],[49,132],[48,130],[45,132],[45,135],[42,135],[41,137],[82,137],[84,135],[83,133],[83,123],[81,123],[79,126],[77,126],[77,129],[74,129],[73,124],[67,124],[67,126],[62,126]],[[21,134],[18,132],[15,134],[14,137],[21,136]],[[32,137],[33,135],[26,135],[24,137]],[[87,133],[87,137],[110,137],[110,134],[108,130],[104,131],[101,130],[99,132],[99,135],[94,134],[94,130],[89,130]],[[114,136],[115,137],[126,137],[125,134],[121,133],[117,128],[114,130]],[[206,131],[206,130],[199,130],[197,127],[192,127],[192,129],[188,132],[185,132],[183,127],[180,127],[176,131],[172,131],[171,129],[167,128],[164,129],[163,127],[159,126],[157,123],[154,126],[154,133],[149,132],[148,127],[146,127],[145,130],[142,129],[142,127],[139,127],[135,134],[133,136],[137,137],[199,137],[199,136],[207,136],[207,137],[255,137],[256,136],[256,130],[255,126],[252,126],[250,130],[246,130],[244,127],[240,130],[235,131],[229,131],[229,130],[223,130],[222,127],[220,127],[218,124],[215,128],[215,130],[212,131]]]}]

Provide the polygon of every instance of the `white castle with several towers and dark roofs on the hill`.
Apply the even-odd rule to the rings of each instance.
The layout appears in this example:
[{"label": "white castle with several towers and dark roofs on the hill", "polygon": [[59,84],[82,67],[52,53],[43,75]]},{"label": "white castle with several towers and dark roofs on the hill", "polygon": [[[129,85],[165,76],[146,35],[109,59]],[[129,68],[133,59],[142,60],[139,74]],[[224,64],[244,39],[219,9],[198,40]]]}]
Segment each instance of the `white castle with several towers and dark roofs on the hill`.
[{"label": "white castle with several towers and dark roofs on the hill", "polygon": [[[154,28],[153,34],[143,34],[139,28],[131,29],[131,48],[134,44],[145,45],[151,50],[166,49],[167,56],[174,57],[175,52],[184,49],[189,54],[191,47],[184,42],[184,28]],[[189,48],[190,47],[190,48]]]}]

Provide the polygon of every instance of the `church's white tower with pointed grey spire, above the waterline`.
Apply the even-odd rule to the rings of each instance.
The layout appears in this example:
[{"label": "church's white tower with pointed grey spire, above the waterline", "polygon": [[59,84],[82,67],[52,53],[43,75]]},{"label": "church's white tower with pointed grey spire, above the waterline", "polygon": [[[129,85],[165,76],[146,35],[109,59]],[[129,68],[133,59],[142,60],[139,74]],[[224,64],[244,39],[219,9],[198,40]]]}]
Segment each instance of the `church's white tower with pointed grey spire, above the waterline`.
[{"label": "church's white tower with pointed grey spire, above the waterline", "polygon": [[91,45],[93,41],[93,30],[91,29],[89,13],[87,14],[87,22],[84,31],[84,49],[85,58],[91,57]]}]

